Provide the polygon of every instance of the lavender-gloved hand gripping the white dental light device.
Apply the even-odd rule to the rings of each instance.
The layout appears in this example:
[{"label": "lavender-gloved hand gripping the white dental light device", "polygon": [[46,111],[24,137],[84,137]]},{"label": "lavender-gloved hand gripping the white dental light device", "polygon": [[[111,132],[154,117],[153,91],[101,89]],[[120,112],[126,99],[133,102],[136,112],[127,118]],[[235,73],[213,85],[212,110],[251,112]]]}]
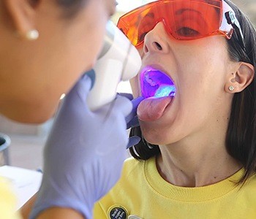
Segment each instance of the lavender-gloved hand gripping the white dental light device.
[{"label": "lavender-gloved hand gripping the white dental light device", "polygon": [[[116,183],[127,156],[132,104],[124,96],[91,112],[83,76],[64,99],[44,150],[42,185],[30,218],[48,207],[67,207],[91,218],[94,202]],[[129,122],[129,120],[128,120]]]}]

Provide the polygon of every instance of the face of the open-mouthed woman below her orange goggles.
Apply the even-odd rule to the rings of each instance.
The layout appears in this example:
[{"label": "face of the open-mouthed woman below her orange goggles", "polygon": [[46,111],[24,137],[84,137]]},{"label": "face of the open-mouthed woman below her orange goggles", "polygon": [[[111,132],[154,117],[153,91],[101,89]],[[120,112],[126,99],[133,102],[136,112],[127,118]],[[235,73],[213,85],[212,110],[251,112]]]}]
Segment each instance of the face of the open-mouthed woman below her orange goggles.
[{"label": "face of the open-mouthed woman below her orange goggles", "polygon": [[[142,69],[150,66],[165,72],[176,85],[176,96],[146,99],[138,107],[143,137],[152,144],[168,145],[197,134],[214,133],[227,123],[231,96],[225,92],[231,61],[225,37],[191,41],[173,39],[158,23],[146,34],[140,54]],[[132,91],[140,96],[140,75]]]}]

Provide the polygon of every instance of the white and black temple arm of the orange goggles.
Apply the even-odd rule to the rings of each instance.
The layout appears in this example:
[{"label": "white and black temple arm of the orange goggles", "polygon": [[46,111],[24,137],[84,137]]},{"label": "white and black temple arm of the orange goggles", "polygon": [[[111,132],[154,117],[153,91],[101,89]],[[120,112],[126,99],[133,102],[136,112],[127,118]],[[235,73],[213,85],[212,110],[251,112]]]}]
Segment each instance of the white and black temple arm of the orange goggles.
[{"label": "white and black temple arm of the orange goggles", "polygon": [[238,42],[241,45],[241,47],[244,49],[244,51],[246,51],[246,47],[245,47],[245,43],[244,43],[244,35],[242,33],[241,30],[241,26],[236,18],[236,15],[232,12],[225,12],[225,17],[227,19],[227,23],[230,24],[231,26],[233,26],[234,28],[234,32],[236,33],[237,37],[238,37]]}]

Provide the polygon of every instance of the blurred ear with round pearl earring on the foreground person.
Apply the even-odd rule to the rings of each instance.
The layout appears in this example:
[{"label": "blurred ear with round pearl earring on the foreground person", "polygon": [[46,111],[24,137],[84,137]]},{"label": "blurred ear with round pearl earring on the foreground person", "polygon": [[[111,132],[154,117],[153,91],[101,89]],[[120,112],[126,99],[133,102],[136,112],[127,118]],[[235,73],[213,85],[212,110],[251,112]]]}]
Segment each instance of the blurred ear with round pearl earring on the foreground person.
[{"label": "blurred ear with round pearl earring on the foreground person", "polygon": [[33,4],[29,0],[4,0],[4,5],[18,36],[23,39],[37,39]]}]

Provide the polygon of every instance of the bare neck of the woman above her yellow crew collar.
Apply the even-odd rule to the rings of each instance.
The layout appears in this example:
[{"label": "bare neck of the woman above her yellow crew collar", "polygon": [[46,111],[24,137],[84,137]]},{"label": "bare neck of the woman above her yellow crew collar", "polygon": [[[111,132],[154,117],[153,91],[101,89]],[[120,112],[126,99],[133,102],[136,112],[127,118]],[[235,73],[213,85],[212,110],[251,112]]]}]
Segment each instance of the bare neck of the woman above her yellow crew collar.
[{"label": "bare neck of the woman above her yellow crew collar", "polygon": [[173,185],[211,185],[241,169],[241,164],[227,153],[225,139],[185,139],[159,148],[161,155],[157,157],[157,169]]}]

